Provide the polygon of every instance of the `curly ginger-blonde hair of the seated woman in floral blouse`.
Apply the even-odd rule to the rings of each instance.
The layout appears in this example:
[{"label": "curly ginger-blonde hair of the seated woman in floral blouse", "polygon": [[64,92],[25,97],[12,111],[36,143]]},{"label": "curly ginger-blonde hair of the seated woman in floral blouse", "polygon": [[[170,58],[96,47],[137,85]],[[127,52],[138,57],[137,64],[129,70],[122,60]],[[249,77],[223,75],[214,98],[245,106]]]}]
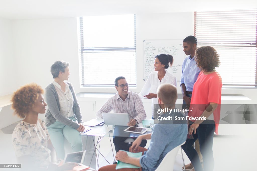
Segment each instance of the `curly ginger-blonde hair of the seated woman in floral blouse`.
[{"label": "curly ginger-blonde hair of the seated woman in floral blouse", "polygon": [[13,93],[11,100],[13,102],[14,114],[24,118],[25,114],[33,108],[34,103],[42,93],[44,93],[44,90],[36,83],[27,84],[19,88]]}]

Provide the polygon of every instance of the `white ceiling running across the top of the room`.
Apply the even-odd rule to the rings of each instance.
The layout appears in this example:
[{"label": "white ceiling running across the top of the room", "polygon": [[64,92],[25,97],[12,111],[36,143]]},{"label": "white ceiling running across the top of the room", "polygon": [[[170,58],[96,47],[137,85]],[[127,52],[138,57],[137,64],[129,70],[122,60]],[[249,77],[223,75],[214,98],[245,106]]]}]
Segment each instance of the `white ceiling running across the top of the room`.
[{"label": "white ceiling running across the top of the room", "polygon": [[257,8],[256,0],[0,0],[0,17],[21,20],[253,8]]}]

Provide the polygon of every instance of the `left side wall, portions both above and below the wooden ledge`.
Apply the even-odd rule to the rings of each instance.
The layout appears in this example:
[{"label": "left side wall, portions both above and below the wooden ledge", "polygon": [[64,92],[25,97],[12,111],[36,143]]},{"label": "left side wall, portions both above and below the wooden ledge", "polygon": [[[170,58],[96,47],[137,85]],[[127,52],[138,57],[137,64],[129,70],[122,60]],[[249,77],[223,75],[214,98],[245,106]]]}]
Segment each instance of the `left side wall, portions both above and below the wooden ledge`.
[{"label": "left side wall, portions both above and below the wooden ledge", "polygon": [[[18,72],[13,57],[12,21],[0,18],[0,96],[17,89]],[[11,105],[0,108],[0,129],[19,120],[13,115]]]}]

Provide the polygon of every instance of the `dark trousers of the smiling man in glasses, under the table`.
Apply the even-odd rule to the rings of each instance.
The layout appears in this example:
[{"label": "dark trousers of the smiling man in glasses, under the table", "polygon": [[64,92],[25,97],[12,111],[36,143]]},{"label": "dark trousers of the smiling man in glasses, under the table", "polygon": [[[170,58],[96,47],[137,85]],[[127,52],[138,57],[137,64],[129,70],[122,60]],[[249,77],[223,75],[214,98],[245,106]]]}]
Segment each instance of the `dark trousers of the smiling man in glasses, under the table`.
[{"label": "dark trousers of the smiling man in glasses, under the table", "polygon": [[[125,151],[129,151],[130,146],[132,146],[132,143],[128,144],[126,142],[124,142],[128,137],[113,137],[113,143],[114,143],[114,147],[115,147],[115,151],[116,153],[119,150],[125,150]],[[136,137],[133,138],[134,140],[136,139]],[[140,147],[145,147],[147,141],[144,139],[142,140]]]}]

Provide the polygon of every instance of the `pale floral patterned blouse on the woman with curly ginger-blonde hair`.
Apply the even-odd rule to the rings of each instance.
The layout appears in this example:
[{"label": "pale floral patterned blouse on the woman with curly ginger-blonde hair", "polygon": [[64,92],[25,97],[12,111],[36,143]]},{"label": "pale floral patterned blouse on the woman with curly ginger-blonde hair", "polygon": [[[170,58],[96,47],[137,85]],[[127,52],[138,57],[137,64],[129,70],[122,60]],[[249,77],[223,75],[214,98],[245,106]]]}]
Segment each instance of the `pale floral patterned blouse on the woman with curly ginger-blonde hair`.
[{"label": "pale floral patterned blouse on the woman with curly ginger-blonde hair", "polygon": [[50,139],[44,121],[38,119],[36,124],[21,121],[14,129],[12,143],[17,157],[31,156],[31,164],[47,168],[51,163],[50,149],[47,141]]}]

